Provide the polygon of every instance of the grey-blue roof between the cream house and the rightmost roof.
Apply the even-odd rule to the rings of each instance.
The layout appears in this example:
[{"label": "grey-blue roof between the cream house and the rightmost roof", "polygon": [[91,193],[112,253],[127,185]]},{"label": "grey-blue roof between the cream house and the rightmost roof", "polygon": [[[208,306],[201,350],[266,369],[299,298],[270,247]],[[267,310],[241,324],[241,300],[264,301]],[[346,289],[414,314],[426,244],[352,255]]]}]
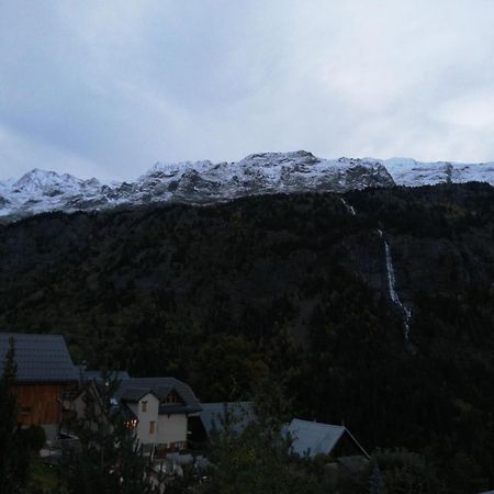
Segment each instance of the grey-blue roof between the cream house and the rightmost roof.
[{"label": "grey-blue roof between the cream house and the rightmost roof", "polygon": [[200,418],[209,436],[223,430],[228,415],[234,434],[240,434],[255,418],[252,402],[202,403],[201,406]]}]

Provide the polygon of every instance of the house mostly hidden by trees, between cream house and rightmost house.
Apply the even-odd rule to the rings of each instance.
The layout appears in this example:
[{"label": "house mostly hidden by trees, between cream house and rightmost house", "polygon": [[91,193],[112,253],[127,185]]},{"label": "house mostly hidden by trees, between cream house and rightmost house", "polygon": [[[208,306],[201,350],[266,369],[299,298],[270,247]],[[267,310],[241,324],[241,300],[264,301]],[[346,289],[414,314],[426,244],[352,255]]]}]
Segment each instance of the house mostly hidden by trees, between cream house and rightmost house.
[{"label": "house mostly hidden by trees, between cream house and rightmost house", "polygon": [[205,444],[215,434],[222,433],[226,425],[234,435],[242,434],[254,420],[252,402],[201,403],[199,417],[191,420],[191,440],[197,445]]}]

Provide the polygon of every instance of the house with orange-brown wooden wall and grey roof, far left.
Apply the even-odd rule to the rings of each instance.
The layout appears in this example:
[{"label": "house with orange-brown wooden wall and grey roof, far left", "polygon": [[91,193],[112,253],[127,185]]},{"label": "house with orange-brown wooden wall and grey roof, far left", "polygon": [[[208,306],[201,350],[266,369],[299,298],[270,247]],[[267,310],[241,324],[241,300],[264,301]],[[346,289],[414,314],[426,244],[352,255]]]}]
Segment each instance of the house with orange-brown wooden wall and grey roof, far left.
[{"label": "house with orange-brown wooden wall and grey roof, far left", "polygon": [[18,401],[18,422],[41,425],[53,440],[63,422],[63,397],[78,388],[77,370],[60,335],[0,333],[0,373],[9,339],[13,338],[16,377],[12,392]]}]

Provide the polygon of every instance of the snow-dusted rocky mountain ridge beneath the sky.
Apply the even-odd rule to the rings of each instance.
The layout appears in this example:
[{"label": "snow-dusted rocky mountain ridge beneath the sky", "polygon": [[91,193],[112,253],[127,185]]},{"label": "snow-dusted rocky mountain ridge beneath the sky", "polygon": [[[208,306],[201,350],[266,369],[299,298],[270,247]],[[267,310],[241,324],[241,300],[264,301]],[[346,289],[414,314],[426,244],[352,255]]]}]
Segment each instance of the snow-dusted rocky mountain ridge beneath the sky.
[{"label": "snow-dusted rocky mountain ridge beneath the sky", "polygon": [[19,180],[0,182],[0,217],[15,220],[46,211],[98,210],[119,204],[209,203],[262,193],[345,192],[472,180],[494,184],[494,162],[322,159],[299,150],[254,154],[236,162],[157,162],[135,181],[104,183],[34,169]]}]

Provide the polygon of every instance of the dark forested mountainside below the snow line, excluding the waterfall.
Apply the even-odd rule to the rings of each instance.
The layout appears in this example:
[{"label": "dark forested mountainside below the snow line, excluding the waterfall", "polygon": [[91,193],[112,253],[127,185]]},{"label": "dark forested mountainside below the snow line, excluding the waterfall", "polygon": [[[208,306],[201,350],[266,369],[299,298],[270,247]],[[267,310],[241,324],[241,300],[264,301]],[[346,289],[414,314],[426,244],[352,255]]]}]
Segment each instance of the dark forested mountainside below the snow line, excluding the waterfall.
[{"label": "dark forested mountainside below the snow line, excluding the waterfall", "polygon": [[0,225],[0,329],[63,334],[77,362],[175,375],[202,401],[248,398],[269,378],[294,416],[424,454],[447,492],[494,486],[486,184]]}]

